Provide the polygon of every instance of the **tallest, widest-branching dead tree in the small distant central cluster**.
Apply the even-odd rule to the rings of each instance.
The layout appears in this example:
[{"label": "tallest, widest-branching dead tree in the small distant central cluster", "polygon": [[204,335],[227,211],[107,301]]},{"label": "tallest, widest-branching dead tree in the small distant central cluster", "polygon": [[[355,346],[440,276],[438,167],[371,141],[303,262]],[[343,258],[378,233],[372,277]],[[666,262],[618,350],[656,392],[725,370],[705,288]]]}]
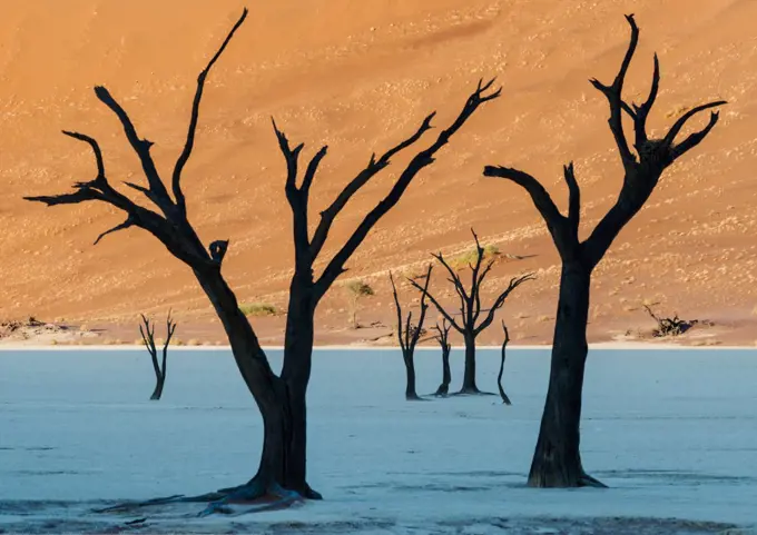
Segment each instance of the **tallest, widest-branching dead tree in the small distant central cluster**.
[{"label": "tallest, widest-branching dead tree in the small distant central cluster", "polygon": [[[436,260],[439,260],[442,266],[444,266],[444,269],[446,269],[448,274],[450,275],[448,280],[452,283],[455,293],[460,298],[461,319],[454,319],[453,315],[442,307],[439,300],[431,294],[429,294],[429,300],[434,304],[444,319],[446,319],[458,333],[463,335],[463,340],[465,341],[465,371],[463,375],[463,386],[459,394],[485,394],[482,393],[475,384],[475,339],[486,327],[491,325],[491,323],[494,320],[494,314],[502,307],[502,305],[504,305],[505,299],[510,296],[512,290],[518,288],[527,280],[533,279],[533,275],[528,274],[512,278],[504,291],[502,291],[497,297],[497,299],[494,299],[492,306],[488,310],[484,310],[481,307],[481,285],[494,265],[494,260],[490,260],[489,264],[486,264],[486,266],[481,269],[484,249],[481,247],[479,237],[475,235],[473,229],[471,229],[471,232],[473,232],[473,239],[475,240],[476,256],[475,265],[469,265],[471,269],[470,289],[465,289],[460,275],[448,264],[441,252],[433,255],[433,257],[436,258]],[[411,280],[411,284],[413,284],[419,290],[423,290],[423,288],[421,288],[417,283]],[[479,323],[482,311],[486,311],[486,315],[483,316],[483,319]]]}]

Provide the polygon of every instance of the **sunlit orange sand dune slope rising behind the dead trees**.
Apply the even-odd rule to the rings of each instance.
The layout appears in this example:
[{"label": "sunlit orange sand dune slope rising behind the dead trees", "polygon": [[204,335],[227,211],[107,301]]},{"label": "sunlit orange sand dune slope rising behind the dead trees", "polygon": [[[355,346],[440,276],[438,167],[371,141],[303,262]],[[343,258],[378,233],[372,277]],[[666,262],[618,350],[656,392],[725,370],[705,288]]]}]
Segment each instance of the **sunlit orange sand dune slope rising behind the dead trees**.
[{"label": "sunlit orange sand dune slope rising behind the dead trees", "polygon": [[[0,318],[29,315],[105,327],[131,343],[136,314],[181,323],[180,338],[223,335],[189,270],[139,230],[91,242],[122,217],[86,205],[46,209],[23,195],[62,192],[94,176],[87,148],[60,129],[96,136],[111,181],[140,180],[117,120],[91,92],[106,85],[131,113],[167,172],[183,146],[195,78],[238,17],[242,1],[104,0],[4,2],[0,20]],[[584,235],[620,186],[607,105],[587,79],[609,81],[635,12],[641,42],[627,93],[648,88],[653,51],[662,89],[651,119],[661,131],[688,106],[727,99],[720,125],[663,177],[649,205],[619,236],[596,271],[590,338],[648,329],[642,301],[710,319],[690,341],[753,345],[757,334],[757,37],[751,0],[279,0],[250,1],[250,17],[212,73],[197,148],[185,174],[190,219],[201,238],[229,238],[225,274],[242,301],[286,306],[292,267],[284,160],[275,116],[294,142],[330,153],[316,178],[312,224],[368,160],[417,127],[432,109],[438,126],[456,113],[475,81],[497,75],[503,97],[486,105],[423,171],[397,208],[350,262],[350,277],[376,288],[363,324],[391,324],[389,268],[422,269],[432,250],[470,247],[469,227],[502,252],[489,289],[534,270],[504,317],[515,341],[549,340],[559,275],[557,255],[527,196],[481,177],[486,164],[514,165],[544,181],[562,205],[560,166],[574,159],[583,188]],[[700,126],[700,125],[695,125]],[[424,139],[425,147],[430,142]],[[324,258],[387,190],[405,159],[365,188],[334,228]],[[434,288],[441,286],[441,274]],[[345,278],[346,280],[346,278]],[[410,290],[404,289],[405,298]],[[318,311],[318,343],[386,341],[389,328],[346,329],[345,290]],[[435,317],[435,316],[434,316]],[[267,344],[283,318],[256,320]],[[78,328],[78,327],[77,327]],[[694,337],[694,338],[691,338]],[[498,328],[484,335],[497,343]],[[698,341],[697,341],[698,340]]]}]

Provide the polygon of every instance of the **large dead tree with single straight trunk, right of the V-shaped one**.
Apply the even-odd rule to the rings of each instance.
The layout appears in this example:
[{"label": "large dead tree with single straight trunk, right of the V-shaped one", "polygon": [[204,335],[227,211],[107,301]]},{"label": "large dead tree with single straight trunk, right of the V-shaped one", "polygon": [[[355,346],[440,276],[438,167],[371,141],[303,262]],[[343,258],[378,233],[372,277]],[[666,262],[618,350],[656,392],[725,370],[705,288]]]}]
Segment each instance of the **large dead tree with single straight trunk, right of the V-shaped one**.
[{"label": "large dead tree with single straight trunk, right of the V-shaped one", "polygon": [[[581,419],[581,390],[588,353],[586,328],[589,311],[591,273],[604,256],[620,230],[645,205],[662,172],[678,158],[695,148],[712,130],[718,112],[710,115],[707,126],[690,133],[681,142],[676,138],[689,119],[700,111],[724,105],[709,102],[689,109],[661,138],[649,138],[647,118],[657,99],[660,70],[655,56],[655,71],[649,96],[640,106],[622,99],[623,82],[636,51],[639,29],[633,16],[626,19],[631,27],[631,39],[620,70],[611,85],[592,79],[591,83],[609,101],[610,131],[615,138],[623,166],[623,182],[616,204],[602,217],[583,241],[579,239],[581,211],[580,189],[573,165],[563,168],[568,185],[568,216],[563,216],[544,187],[531,175],[508,167],[486,166],[486,177],[513,181],[528,191],[547,222],[547,228],[562,260],[560,297],[552,345],[552,364],[539,440],[529,474],[529,485],[535,487],[577,487],[601,485],[587,475],[581,465],[579,425]],[[632,141],[636,153],[623,132],[623,113],[633,125]]]}]

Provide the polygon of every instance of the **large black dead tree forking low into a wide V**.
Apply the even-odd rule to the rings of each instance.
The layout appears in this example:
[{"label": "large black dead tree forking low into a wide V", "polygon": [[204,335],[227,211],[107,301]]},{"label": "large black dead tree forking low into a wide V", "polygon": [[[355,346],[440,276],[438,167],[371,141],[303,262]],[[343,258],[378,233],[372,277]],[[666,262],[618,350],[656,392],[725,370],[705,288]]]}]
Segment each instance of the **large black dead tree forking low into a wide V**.
[{"label": "large black dead tree forking low into a wide V", "polygon": [[[197,89],[191,105],[186,143],[176,161],[169,182],[164,181],[158,174],[150,153],[153,142],[137,133],[127,111],[106,88],[95,88],[97,98],[118,118],[129,145],[141,162],[146,185],[132,182],[126,185],[144,194],[157,209],[140,206],[118,192],[107,178],[102,152],[98,142],[91,137],[77,132],[65,133],[89,145],[97,162],[97,176],[91,180],[76,182],[72,192],[27,197],[28,200],[43,202],[48,206],[99,201],[117,208],[126,215],[126,219],[101,234],[96,242],[106,235],[130,227],[147,230],[171,255],[193,270],[199,286],[213,304],[229,339],[239,373],[255,398],[264,423],[263,452],[257,474],[248,483],[238,487],[208,494],[206,497],[214,501],[213,507],[218,505],[215,501],[253,499],[269,491],[278,492],[281,488],[296,492],[308,498],[319,497],[308,486],[305,469],[305,397],[311,377],[315,309],[337,277],[345,271],[345,264],[353,252],[381,218],[397,204],[417,174],[434,161],[439,150],[449,142],[450,138],[460,130],[482,103],[498,98],[501,91],[490,91],[493,80],[485,83],[479,82],[454,121],[448,128],[441,130],[426,148],[419,150],[409,158],[404,168],[397,170],[397,179],[389,194],[365,215],[346,241],[336,249],[334,256],[322,264],[325,265],[325,268],[317,278],[314,274],[314,264],[323,250],[334,220],[347,206],[352,197],[392,162],[394,156],[414,146],[432,128],[431,121],[435,113],[427,116],[417,130],[406,139],[378,156],[374,153],[367,166],[344,187],[333,202],[319,211],[321,218],[315,225],[312,236],[308,232],[308,196],[318,165],[326,156],[327,148],[322,147],[315,152],[305,166],[299,180],[299,156],[304,145],[291,147],[286,136],[274,122],[273,127],[278,147],[286,161],[285,192],[292,209],[295,250],[294,273],[289,284],[284,364],[281,374],[276,375],[260,347],[255,330],[239,310],[237,298],[222,274],[222,264],[228,249],[228,240],[216,240],[207,249],[205,248],[187,217],[181,182],[183,171],[195,145],[205,80],[210,68],[226,49],[246,16],[247,11],[245,10],[218,51],[197,78]],[[173,192],[173,198],[167,186]]]}]

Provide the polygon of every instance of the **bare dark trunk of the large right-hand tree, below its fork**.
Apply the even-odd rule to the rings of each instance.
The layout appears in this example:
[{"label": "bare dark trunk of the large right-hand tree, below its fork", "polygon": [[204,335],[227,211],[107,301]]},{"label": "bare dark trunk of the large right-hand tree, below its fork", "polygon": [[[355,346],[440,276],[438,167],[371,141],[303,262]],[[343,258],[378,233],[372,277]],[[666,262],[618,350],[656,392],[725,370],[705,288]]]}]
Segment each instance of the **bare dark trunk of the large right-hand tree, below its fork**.
[{"label": "bare dark trunk of the large right-hand tree, below its fork", "polygon": [[580,264],[562,267],[549,389],[529,473],[532,487],[599,484],[583,472],[579,453],[590,276]]}]

